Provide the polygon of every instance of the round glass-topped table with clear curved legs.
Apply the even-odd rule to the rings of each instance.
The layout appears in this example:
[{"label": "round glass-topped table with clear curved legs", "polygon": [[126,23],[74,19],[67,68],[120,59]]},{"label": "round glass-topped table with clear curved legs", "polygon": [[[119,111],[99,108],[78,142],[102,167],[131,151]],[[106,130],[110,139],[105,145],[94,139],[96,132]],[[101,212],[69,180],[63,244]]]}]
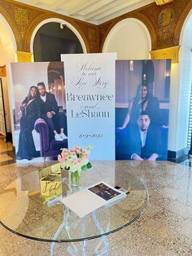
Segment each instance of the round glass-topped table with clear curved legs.
[{"label": "round glass-topped table with clear curved legs", "polygon": [[[127,196],[103,205],[83,218],[78,217],[56,197],[46,201],[43,198],[39,170],[50,166],[50,163],[37,166],[15,164],[11,171],[12,181],[0,191],[0,223],[16,235],[51,242],[50,254],[53,254],[56,242],[79,241],[82,253],[85,252],[83,241],[100,237],[103,248],[98,248],[98,252],[100,250],[102,254],[109,249],[107,235],[133,223],[146,210],[148,192],[144,183],[126,167],[127,162],[92,161],[92,168],[82,173],[80,188],[70,188],[68,172],[62,171],[62,195],[59,198],[102,181],[112,187],[129,190]],[[50,191],[55,186],[49,187]],[[85,204],[85,201],[79,204]],[[68,252],[76,255],[72,246]]]}]

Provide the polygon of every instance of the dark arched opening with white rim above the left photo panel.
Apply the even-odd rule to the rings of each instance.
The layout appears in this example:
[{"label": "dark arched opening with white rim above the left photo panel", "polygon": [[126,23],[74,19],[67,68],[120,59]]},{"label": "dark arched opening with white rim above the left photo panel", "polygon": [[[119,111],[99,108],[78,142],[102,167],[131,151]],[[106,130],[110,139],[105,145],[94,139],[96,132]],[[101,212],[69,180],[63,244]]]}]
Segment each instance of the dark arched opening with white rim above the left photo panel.
[{"label": "dark arched opening with white rim above the left photo panel", "polygon": [[35,61],[60,61],[60,54],[84,53],[86,49],[80,33],[71,24],[49,19],[33,31],[31,51]]}]

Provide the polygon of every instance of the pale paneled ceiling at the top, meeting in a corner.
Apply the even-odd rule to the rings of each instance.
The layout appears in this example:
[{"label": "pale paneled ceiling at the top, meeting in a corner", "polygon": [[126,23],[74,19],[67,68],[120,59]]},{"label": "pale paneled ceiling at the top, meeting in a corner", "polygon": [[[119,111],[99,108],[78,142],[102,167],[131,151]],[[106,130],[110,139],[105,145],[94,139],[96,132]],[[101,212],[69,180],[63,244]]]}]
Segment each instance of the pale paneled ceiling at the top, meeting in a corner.
[{"label": "pale paneled ceiling at the top, meeting in a corner", "polygon": [[[161,0],[162,1],[162,0]],[[16,0],[33,7],[68,15],[92,24],[102,24],[154,0]]]}]

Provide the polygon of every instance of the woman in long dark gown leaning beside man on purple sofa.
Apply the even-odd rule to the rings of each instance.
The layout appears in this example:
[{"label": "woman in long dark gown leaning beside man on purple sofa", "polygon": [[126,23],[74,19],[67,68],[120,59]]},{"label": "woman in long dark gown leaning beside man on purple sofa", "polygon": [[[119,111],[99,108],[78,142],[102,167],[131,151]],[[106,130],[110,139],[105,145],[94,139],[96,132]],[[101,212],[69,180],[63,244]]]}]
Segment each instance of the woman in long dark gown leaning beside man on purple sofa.
[{"label": "woman in long dark gown leaning beside man on purple sofa", "polygon": [[33,157],[38,157],[38,152],[36,151],[32,135],[34,123],[37,118],[40,117],[37,96],[37,87],[31,86],[27,97],[20,106],[20,138],[18,152],[16,154],[17,160],[31,160]]}]

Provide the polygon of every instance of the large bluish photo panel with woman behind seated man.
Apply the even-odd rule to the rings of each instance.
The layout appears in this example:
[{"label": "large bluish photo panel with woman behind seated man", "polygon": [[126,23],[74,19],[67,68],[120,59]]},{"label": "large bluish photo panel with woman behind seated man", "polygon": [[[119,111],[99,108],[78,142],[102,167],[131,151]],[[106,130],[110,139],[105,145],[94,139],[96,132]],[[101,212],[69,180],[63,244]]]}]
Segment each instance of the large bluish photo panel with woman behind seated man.
[{"label": "large bluish photo panel with woman behind seated man", "polygon": [[116,159],[166,160],[171,60],[116,61]]}]

